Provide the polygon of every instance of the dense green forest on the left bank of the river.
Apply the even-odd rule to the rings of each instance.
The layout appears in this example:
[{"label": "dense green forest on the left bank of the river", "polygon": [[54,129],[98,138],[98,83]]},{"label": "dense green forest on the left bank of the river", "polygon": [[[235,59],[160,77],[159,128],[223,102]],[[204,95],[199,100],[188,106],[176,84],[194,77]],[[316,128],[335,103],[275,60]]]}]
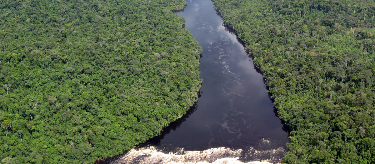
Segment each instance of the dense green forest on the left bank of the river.
[{"label": "dense green forest on the left bank of the river", "polygon": [[0,0],[1,163],[93,163],[198,99],[183,0]]}]

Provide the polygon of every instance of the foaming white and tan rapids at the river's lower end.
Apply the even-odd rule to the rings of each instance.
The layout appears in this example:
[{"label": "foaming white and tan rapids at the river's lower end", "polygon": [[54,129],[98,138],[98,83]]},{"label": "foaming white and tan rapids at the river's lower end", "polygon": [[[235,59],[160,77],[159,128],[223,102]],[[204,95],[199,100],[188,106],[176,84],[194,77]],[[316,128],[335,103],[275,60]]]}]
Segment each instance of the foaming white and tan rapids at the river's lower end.
[{"label": "foaming white and tan rapids at the river's lower end", "polygon": [[[184,151],[177,148],[174,152],[163,153],[150,146],[148,148],[131,149],[129,153],[120,155],[111,164],[244,164],[242,159],[258,159],[245,164],[271,164],[280,160],[275,158],[285,152],[284,148],[258,151],[255,148],[242,149],[211,148],[205,151]],[[254,158],[255,157],[255,158]],[[270,157],[269,159],[260,157]],[[105,160],[96,164],[105,163]],[[107,162],[108,163],[108,162]]]}]

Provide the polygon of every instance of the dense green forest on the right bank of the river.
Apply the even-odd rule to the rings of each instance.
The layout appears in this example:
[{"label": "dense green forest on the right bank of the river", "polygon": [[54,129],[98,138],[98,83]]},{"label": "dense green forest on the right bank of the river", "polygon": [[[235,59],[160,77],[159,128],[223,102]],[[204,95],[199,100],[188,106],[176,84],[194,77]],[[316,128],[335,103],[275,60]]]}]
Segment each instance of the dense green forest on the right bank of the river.
[{"label": "dense green forest on the right bank of the river", "polygon": [[375,163],[375,3],[213,0],[290,127],[283,163]]}]

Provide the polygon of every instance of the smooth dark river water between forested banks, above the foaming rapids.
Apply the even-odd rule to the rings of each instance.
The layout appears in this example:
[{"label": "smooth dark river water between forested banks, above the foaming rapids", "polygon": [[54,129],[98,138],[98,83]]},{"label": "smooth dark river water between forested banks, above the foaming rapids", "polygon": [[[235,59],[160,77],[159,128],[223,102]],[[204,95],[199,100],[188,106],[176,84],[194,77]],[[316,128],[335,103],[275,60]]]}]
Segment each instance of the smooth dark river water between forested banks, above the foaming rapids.
[{"label": "smooth dark river water between forested banks, above the foaming rapids", "polygon": [[273,158],[271,162],[278,162],[289,141],[288,132],[243,45],[223,26],[210,0],[187,0],[177,15],[185,18],[185,28],[203,48],[200,97],[183,118],[138,148],[153,146],[168,154],[176,148],[226,147],[242,149],[240,161]]}]

